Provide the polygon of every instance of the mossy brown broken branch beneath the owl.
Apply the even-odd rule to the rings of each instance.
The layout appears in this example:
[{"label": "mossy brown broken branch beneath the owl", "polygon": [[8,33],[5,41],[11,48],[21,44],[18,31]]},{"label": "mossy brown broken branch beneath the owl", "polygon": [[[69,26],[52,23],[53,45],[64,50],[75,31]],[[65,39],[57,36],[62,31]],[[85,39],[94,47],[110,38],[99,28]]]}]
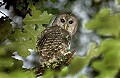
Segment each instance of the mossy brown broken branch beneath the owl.
[{"label": "mossy brown broken branch beneath the owl", "polygon": [[[48,68],[60,70],[63,65],[65,65],[65,66],[69,65],[70,61],[73,59],[73,55],[75,52],[76,52],[76,50],[73,50],[71,52],[66,53],[65,54],[65,58],[66,58],[65,61],[58,60],[58,62],[55,62],[55,64],[57,64],[56,67],[53,67],[55,64],[52,64],[52,62],[47,63],[47,64],[43,63],[43,65],[36,66],[36,68],[35,68],[36,77],[42,76],[44,74],[45,70]],[[63,59],[63,58],[60,58],[60,59]]]}]

